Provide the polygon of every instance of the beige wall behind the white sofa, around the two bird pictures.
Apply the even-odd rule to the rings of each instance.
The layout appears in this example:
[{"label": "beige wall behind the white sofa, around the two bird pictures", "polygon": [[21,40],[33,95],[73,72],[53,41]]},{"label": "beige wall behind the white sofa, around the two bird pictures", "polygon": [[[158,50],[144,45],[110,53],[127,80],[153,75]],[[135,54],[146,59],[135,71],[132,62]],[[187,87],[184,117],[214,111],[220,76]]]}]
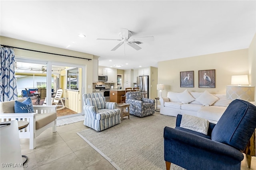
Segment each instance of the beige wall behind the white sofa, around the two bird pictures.
[{"label": "beige wall behind the white sofa, around the two bird pictures", "polygon": [[[162,61],[158,62],[158,84],[166,85],[162,96],[166,96],[168,91],[183,92],[185,89],[225,94],[232,75],[249,75],[248,63],[248,49]],[[198,70],[212,69],[216,73],[216,88],[198,88]],[[194,71],[194,88],[180,88],[181,71]]]}]

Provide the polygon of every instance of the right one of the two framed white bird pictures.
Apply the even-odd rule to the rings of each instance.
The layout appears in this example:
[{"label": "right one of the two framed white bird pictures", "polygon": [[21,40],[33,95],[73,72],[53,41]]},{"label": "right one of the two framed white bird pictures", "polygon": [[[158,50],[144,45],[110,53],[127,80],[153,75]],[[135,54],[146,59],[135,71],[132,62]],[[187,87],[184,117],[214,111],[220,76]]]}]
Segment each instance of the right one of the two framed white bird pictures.
[{"label": "right one of the two framed white bird pictures", "polygon": [[199,88],[216,88],[215,86],[215,70],[199,70],[198,71],[198,87]]}]

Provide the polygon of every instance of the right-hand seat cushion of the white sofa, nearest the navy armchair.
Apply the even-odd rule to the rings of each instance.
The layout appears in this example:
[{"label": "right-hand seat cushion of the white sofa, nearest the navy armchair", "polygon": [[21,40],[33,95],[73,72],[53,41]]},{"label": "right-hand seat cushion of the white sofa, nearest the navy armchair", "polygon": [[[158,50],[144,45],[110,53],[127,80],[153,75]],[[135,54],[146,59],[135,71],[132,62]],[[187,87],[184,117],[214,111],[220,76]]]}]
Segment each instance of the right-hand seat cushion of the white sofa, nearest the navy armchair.
[{"label": "right-hand seat cushion of the white sofa, nearest the navy armchair", "polygon": [[198,117],[218,121],[227,107],[222,106],[204,106],[197,112]]}]

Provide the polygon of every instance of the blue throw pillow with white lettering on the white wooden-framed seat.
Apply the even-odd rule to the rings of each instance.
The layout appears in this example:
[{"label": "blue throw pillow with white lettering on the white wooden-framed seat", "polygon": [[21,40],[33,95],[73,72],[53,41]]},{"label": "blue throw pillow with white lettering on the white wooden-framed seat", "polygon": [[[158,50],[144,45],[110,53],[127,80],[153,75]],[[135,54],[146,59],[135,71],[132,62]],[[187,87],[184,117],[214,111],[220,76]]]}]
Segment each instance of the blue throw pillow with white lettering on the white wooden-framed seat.
[{"label": "blue throw pillow with white lettering on the white wooden-framed seat", "polygon": [[33,104],[30,98],[23,102],[14,102],[14,113],[34,113]]}]

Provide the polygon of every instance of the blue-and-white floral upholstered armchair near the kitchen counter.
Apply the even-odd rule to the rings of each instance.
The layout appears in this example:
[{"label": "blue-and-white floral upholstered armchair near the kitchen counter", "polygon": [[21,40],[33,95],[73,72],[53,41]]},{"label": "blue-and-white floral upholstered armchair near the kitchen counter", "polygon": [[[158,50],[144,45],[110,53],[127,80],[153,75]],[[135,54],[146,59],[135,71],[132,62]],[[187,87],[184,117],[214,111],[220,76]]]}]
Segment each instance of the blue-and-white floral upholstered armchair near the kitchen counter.
[{"label": "blue-and-white floral upholstered armchair near the kitchen counter", "polygon": [[155,100],[141,98],[140,92],[127,92],[125,102],[130,104],[130,114],[139,117],[155,113]]}]

